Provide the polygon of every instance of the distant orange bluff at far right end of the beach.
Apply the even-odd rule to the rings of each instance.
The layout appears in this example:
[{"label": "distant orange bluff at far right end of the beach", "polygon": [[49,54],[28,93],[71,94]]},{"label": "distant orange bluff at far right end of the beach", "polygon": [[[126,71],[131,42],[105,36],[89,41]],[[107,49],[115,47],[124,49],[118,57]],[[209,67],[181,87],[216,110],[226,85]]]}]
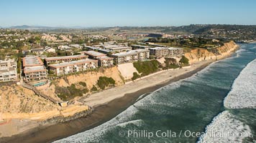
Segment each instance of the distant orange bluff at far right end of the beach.
[{"label": "distant orange bluff at far right end of the beach", "polygon": [[205,60],[219,60],[228,56],[232,51],[235,51],[238,45],[234,41],[229,41],[223,46],[219,46],[213,50],[207,49],[192,49],[190,52],[185,53],[186,58],[189,60],[189,64],[196,63],[198,61]]}]

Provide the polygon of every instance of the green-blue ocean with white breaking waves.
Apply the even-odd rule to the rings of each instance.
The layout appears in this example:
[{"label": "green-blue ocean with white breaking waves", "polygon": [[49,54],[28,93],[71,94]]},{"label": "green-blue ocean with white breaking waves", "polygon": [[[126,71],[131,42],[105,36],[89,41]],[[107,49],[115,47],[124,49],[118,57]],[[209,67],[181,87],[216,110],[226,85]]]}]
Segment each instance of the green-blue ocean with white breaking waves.
[{"label": "green-blue ocean with white breaking waves", "polygon": [[55,142],[256,142],[256,44],[239,46],[108,122]]}]

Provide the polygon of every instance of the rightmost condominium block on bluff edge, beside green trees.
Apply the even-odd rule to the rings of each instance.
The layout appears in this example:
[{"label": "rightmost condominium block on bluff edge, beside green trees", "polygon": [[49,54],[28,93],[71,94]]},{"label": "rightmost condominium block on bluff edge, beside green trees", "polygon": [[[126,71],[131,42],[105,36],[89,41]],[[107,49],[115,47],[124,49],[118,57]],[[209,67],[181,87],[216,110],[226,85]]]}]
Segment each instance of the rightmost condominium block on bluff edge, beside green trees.
[{"label": "rightmost condominium block on bluff edge, beside green trees", "polygon": [[173,48],[173,47],[155,47],[150,48],[150,55],[156,57],[163,56],[182,56],[184,53],[182,48]]}]

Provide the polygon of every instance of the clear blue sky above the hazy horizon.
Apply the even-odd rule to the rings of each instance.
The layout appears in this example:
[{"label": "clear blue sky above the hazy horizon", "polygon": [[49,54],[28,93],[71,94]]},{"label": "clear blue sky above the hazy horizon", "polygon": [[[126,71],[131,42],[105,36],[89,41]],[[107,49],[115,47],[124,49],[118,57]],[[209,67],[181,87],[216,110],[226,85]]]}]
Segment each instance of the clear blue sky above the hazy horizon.
[{"label": "clear blue sky above the hazy horizon", "polygon": [[0,0],[0,26],[256,25],[255,0]]}]

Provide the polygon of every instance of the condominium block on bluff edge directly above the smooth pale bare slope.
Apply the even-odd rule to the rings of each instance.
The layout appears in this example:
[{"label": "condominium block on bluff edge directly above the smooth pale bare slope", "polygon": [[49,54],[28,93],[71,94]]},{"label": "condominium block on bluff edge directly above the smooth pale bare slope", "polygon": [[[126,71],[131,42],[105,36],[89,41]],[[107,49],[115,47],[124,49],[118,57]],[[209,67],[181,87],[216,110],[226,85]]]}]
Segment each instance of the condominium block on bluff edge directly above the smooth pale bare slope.
[{"label": "condominium block on bluff edge directly above the smooth pale bare slope", "polygon": [[112,54],[111,56],[114,57],[115,64],[122,64],[122,63],[127,63],[127,62],[132,62],[132,61],[140,61],[143,59],[149,59],[150,58],[150,50],[138,49],[138,50],[127,51],[125,53]]}]

